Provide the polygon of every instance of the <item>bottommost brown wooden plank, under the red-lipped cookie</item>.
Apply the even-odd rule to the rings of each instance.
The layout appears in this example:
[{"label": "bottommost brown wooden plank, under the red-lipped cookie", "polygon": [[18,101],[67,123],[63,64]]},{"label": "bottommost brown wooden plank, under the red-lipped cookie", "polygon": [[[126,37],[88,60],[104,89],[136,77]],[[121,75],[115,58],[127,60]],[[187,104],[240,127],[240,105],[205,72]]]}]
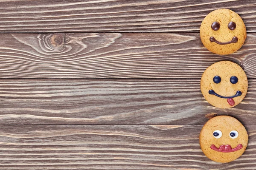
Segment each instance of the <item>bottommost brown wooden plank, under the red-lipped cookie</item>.
[{"label": "bottommost brown wooden plank, under the red-lipped cookie", "polygon": [[0,126],[4,170],[253,170],[256,126],[237,160],[221,164],[204,156],[202,126]]}]

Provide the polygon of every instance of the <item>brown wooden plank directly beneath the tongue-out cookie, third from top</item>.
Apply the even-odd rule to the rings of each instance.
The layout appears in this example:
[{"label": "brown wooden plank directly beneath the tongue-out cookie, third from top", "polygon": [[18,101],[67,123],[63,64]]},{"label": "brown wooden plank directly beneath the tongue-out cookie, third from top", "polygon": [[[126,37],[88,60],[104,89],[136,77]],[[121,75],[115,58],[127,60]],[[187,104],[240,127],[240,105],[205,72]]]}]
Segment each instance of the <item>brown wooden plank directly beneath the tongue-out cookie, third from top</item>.
[{"label": "brown wooden plank directly beneath the tongue-out cookie, third from top", "polygon": [[204,125],[230,115],[255,125],[256,80],[231,109],[204,99],[200,80],[2,79],[1,125]]}]

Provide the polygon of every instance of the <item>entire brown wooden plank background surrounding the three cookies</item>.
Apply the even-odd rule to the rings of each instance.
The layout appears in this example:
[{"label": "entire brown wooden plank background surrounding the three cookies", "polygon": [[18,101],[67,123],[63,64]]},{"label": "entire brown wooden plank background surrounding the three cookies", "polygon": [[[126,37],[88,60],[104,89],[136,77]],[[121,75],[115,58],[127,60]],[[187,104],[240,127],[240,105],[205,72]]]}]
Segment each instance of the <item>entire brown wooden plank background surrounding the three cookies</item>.
[{"label": "entire brown wooden plank background surrounding the three cookies", "polygon": [[[212,54],[199,27],[229,8],[247,27],[234,54]],[[255,0],[0,0],[1,170],[255,170]],[[218,109],[200,78],[211,64],[244,68],[247,96]],[[249,134],[231,163],[198,136],[231,115]]]}]

